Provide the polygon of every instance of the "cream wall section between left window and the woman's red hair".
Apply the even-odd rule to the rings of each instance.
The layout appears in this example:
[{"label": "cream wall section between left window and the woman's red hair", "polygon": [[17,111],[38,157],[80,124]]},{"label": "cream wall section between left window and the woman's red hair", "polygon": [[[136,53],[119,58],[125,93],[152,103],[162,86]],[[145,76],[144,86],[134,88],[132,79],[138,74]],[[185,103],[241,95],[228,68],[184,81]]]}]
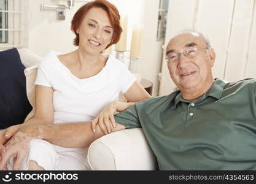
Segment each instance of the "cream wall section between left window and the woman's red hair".
[{"label": "cream wall section between left window and the woman's red hair", "polygon": [[[56,20],[54,10],[41,11],[41,2],[46,5],[56,5],[58,1],[29,0],[28,18],[28,48],[37,55],[44,57],[50,50],[70,52],[76,47],[72,45],[74,34],[70,30],[72,15],[82,2],[76,2],[72,10],[66,10],[66,20]],[[60,1],[65,4],[64,1]]]}]

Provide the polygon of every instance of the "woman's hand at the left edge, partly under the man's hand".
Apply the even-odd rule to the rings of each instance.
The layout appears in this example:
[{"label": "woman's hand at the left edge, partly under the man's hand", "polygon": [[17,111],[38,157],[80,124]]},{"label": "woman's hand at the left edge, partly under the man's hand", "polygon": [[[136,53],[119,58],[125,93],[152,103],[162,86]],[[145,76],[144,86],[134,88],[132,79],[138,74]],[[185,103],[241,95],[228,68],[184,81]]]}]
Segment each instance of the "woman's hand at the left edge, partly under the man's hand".
[{"label": "woman's hand at the left edge, partly under the man's hand", "polygon": [[[10,126],[0,134],[0,150],[3,153],[6,151],[6,147],[4,147],[4,144],[7,142],[7,140],[10,139],[10,137],[12,137],[15,134],[15,132],[18,131],[18,129],[20,129],[20,127],[21,125]],[[1,159],[1,155],[0,155],[0,159]]]}]

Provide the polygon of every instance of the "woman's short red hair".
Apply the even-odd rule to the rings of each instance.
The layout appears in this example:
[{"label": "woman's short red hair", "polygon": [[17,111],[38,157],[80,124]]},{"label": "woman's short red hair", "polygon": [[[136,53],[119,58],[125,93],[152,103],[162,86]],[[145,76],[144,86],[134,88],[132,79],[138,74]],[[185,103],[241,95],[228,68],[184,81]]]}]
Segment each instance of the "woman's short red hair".
[{"label": "woman's short red hair", "polygon": [[111,26],[113,27],[113,36],[112,41],[109,45],[107,45],[106,48],[111,46],[112,44],[116,44],[118,40],[120,39],[120,35],[122,33],[122,28],[120,26],[120,15],[117,10],[117,7],[114,6],[114,4],[111,4],[110,2],[106,0],[95,0],[92,2],[88,2],[87,4],[83,5],[82,7],[77,10],[74,17],[71,21],[71,30],[76,34],[76,38],[74,39],[74,45],[79,45],[79,34],[76,33],[77,29],[79,29],[79,26],[81,25],[83,18],[85,17],[88,10],[90,10],[92,7],[100,7],[104,10],[106,10],[107,14],[109,15],[109,20],[111,21]]}]

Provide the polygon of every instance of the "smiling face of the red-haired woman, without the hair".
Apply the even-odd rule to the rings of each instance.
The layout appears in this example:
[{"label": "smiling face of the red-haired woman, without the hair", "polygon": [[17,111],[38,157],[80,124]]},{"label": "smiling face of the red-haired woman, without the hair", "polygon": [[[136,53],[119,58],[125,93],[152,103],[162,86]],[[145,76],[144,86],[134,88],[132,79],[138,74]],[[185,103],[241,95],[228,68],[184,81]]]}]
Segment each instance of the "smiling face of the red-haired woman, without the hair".
[{"label": "smiling face of the red-haired woman, without the hair", "polygon": [[79,47],[89,53],[102,52],[111,43],[113,31],[107,12],[93,7],[76,31],[79,34]]}]

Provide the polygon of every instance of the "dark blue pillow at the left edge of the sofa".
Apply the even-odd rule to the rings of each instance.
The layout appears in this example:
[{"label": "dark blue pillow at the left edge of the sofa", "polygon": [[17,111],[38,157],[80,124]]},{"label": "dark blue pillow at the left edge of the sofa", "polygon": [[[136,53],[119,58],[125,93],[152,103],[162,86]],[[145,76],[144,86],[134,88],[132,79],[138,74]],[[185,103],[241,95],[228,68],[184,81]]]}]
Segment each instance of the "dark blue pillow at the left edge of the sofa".
[{"label": "dark blue pillow at the left edge of the sofa", "polygon": [[0,129],[23,123],[32,110],[24,69],[16,48],[0,52]]}]

